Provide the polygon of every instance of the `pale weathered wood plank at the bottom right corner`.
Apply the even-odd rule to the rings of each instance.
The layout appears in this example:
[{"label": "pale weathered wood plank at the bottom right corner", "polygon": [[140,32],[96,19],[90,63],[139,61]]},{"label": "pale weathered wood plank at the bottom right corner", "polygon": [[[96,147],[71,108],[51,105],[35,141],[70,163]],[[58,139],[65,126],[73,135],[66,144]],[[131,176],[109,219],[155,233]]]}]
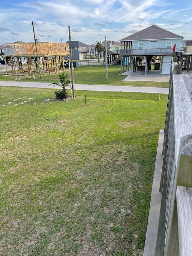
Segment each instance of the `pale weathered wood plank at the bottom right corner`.
[{"label": "pale weathered wood plank at the bottom right corner", "polygon": [[192,255],[192,188],[177,186],[179,255]]}]

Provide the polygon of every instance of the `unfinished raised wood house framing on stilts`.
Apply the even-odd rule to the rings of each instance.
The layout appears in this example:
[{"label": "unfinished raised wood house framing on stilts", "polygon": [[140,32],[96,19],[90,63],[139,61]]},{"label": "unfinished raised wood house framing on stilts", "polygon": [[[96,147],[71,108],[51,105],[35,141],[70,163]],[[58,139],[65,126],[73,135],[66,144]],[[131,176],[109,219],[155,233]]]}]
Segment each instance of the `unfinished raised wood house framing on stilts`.
[{"label": "unfinished raised wood house framing on stilts", "polygon": [[[22,74],[24,69],[29,74],[39,72],[35,43],[9,45],[11,50],[7,49],[7,44],[5,44],[5,58],[8,58],[13,74]],[[64,71],[66,65],[64,56],[68,58],[68,43],[37,43],[37,49],[41,73],[51,74]],[[17,59],[16,63],[13,62],[13,57]]]}]

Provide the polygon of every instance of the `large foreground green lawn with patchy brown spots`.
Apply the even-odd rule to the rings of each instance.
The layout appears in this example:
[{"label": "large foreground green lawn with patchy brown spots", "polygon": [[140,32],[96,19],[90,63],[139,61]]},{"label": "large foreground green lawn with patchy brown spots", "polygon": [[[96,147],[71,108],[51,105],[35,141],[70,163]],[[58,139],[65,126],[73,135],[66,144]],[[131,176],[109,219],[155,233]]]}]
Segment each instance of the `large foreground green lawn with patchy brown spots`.
[{"label": "large foreground green lawn with patchy brown spots", "polygon": [[168,96],[0,91],[0,254],[143,255]]}]

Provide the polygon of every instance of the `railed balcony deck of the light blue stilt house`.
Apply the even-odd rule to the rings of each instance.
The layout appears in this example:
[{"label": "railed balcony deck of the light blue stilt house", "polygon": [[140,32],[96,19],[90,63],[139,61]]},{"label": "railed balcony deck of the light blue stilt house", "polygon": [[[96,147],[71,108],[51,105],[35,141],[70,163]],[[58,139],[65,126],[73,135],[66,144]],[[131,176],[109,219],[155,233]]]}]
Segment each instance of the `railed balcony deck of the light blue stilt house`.
[{"label": "railed balcony deck of the light blue stilt house", "polygon": [[[187,47],[176,48],[176,51],[184,51],[187,53]],[[172,48],[154,48],[154,49],[124,49],[120,50],[121,56],[161,56],[161,55],[172,55]]]}]

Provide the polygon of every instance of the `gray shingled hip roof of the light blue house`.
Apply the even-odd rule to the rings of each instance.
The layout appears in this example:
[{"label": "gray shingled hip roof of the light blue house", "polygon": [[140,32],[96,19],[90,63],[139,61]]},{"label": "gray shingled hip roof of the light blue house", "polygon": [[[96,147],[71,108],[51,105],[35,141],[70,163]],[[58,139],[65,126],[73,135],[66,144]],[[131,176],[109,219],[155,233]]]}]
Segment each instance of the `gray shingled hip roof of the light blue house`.
[{"label": "gray shingled hip roof of the light blue house", "polygon": [[127,36],[120,41],[134,41],[134,40],[151,40],[151,39],[171,39],[171,38],[183,38],[170,31],[162,29],[158,26],[152,25],[146,29],[143,29],[133,35]]}]

